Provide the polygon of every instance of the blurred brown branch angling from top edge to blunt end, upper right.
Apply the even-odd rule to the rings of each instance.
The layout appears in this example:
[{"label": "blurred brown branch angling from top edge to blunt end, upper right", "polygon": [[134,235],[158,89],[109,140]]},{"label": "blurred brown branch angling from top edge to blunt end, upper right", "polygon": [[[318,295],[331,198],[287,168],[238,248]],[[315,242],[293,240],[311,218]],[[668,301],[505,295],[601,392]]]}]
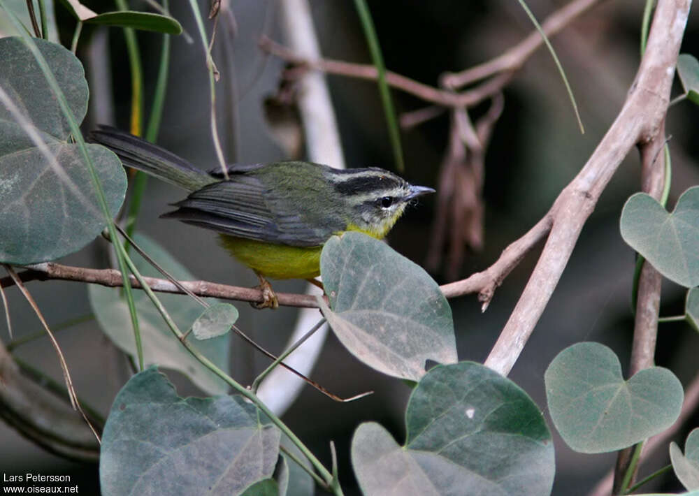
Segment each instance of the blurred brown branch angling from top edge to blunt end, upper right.
[{"label": "blurred brown branch angling from top edge to blunt end, upper right", "polygon": [[[570,22],[574,21],[587,10],[601,3],[602,0],[573,0],[549,15],[541,23],[541,29],[548,38],[558,34]],[[533,30],[524,40],[500,56],[473,66],[459,73],[446,73],[442,82],[449,88],[459,88],[497,73],[517,71],[531,55],[544,43],[539,31]]]}]

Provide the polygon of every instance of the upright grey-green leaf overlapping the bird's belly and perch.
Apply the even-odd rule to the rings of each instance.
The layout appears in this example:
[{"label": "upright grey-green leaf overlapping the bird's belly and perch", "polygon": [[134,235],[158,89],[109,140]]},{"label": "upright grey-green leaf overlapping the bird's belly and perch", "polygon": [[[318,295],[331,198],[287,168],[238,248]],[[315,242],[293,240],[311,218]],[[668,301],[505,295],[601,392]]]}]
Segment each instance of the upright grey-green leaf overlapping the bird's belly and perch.
[{"label": "upright grey-green leaf overlapping the bird's belly and perch", "polygon": [[348,232],[326,242],[321,311],[347,349],[370,367],[419,380],[426,360],[456,362],[452,309],[419,265],[384,242]]}]

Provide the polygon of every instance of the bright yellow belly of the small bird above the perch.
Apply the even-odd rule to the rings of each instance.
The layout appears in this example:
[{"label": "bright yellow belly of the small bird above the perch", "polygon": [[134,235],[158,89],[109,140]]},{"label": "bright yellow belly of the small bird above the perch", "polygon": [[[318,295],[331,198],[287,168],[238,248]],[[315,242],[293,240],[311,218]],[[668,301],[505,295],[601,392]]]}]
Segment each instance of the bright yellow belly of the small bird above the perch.
[{"label": "bright yellow belly of the small bird above the perch", "polygon": [[221,235],[221,244],[240,263],[270,279],[310,279],[320,275],[323,247],[290,247]]}]

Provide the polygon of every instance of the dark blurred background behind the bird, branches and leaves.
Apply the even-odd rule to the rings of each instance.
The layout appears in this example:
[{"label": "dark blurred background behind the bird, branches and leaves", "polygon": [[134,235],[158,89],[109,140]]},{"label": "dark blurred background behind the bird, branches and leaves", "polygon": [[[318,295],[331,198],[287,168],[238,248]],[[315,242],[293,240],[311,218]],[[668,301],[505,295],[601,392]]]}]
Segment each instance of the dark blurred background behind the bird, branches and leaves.
[{"label": "dark blurred background behind the bird, branches and leaves", "polygon": [[[86,2],[89,4],[89,2]],[[173,15],[192,37],[198,39],[188,3],[173,2]],[[208,10],[208,3],[203,10]],[[528,5],[539,20],[563,5],[563,1],[531,0]],[[108,2],[94,2],[94,10],[112,10]],[[352,2],[311,1],[322,52],[326,57],[366,63],[370,61],[366,41]],[[133,2],[133,8],[143,3]],[[432,2],[369,1],[384,61],[388,68],[410,78],[436,85],[441,73],[458,71],[486,61],[517,43],[532,27],[517,2],[505,0]],[[73,23],[58,7],[58,22],[64,43],[69,43]],[[232,122],[237,112],[237,140],[224,133],[224,149],[230,161],[263,162],[284,159],[266,129],[261,102],[275,91],[282,62],[265,57],[257,48],[261,34],[281,41],[275,27],[274,1],[233,2],[238,34],[233,41],[233,60],[215,53],[222,72],[217,84],[219,117]],[[489,146],[486,158],[485,245],[480,253],[469,252],[460,276],[487,268],[513,240],[524,234],[545,214],[561,189],[581,168],[610,126],[633,81],[639,61],[639,32],[642,2],[603,2],[581,17],[564,34],[554,38],[554,47],[575,92],[586,133],[581,135],[575,122],[563,82],[546,50],[539,50],[505,89],[505,110]],[[102,43],[108,35],[105,52],[90,54],[89,46]],[[699,19],[690,17],[683,52],[699,54]],[[139,34],[146,78],[146,110],[160,50],[160,37]],[[85,128],[96,123],[113,123],[128,129],[130,98],[129,66],[119,29],[85,29],[78,55],[85,62],[91,89],[92,113]],[[232,62],[232,63],[231,63]],[[110,81],[113,113],[103,110],[112,96],[97,80]],[[349,167],[382,166],[394,168],[383,110],[373,82],[330,76],[344,154]],[[230,85],[238,96],[226,98]],[[675,96],[679,92],[676,85]],[[222,96],[224,95],[224,96]],[[398,112],[420,108],[412,96],[393,91]],[[208,80],[201,47],[173,38],[173,57],[159,143],[202,168],[215,165],[209,132]],[[227,101],[226,101],[227,100]],[[235,102],[231,105],[229,101]],[[101,105],[96,105],[100,103]],[[109,108],[110,105],[106,105]],[[477,108],[474,115],[484,109]],[[667,132],[672,135],[672,190],[670,205],[687,187],[699,183],[694,140],[699,109],[691,103],[671,108]],[[434,186],[447,143],[448,118],[443,115],[428,124],[403,131],[405,177],[411,182]],[[224,127],[222,127],[222,130]],[[633,318],[630,314],[630,288],[634,254],[619,235],[619,214],[624,201],[639,190],[640,168],[632,152],[610,183],[595,212],[582,231],[568,268],[543,314],[533,337],[515,365],[510,378],[523,387],[547,414],[543,374],[556,353],[568,345],[593,340],[603,342],[619,354],[626,370]],[[208,231],[161,220],[167,204],[182,198],[182,192],[151,180],[145,197],[139,228],[184,263],[201,279],[253,286],[254,275],[231,262]],[[389,235],[394,249],[423,263],[435,212],[435,198],[421,200],[408,211]],[[475,296],[452,300],[454,323],[461,360],[482,362],[498,337],[524,288],[539,249],[522,261],[498,289],[487,312],[480,312]],[[71,265],[103,267],[101,242],[63,261]],[[443,272],[434,274],[443,283]],[[281,282],[280,291],[302,291],[303,284]],[[89,313],[86,289],[66,282],[31,283],[29,289],[50,324]],[[662,315],[681,314],[684,293],[677,286],[663,286]],[[8,291],[15,333],[22,336],[39,330],[33,312],[16,289]],[[247,304],[240,309],[239,326],[273,351],[280,350],[294,325],[295,311],[257,312]],[[2,339],[6,340],[5,331]],[[120,352],[103,337],[94,321],[75,326],[59,335],[68,360],[75,388],[89,404],[105,414],[111,400],[128,378]],[[232,340],[231,374],[243,384],[266,366],[266,359],[253,353],[239,340]],[[657,363],[670,367],[684,384],[696,374],[699,340],[685,324],[662,324],[658,335]],[[36,340],[17,349],[18,357],[60,379],[55,353],[48,340]],[[182,395],[199,394],[177,374],[169,374]],[[361,365],[330,335],[312,377],[338,395],[354,395],[366,390],[374,395],[338,404],[305,388],[283,419],[319,458],[329,464],[329,441],[338,448],[340,481],[345,494],[356,494],[349,463],[352,432],[363,421],[378,421],[403,441],[403,411],[410,389],[403,382]],[[697,425],[687,425],[677,439]],[[547,416],[548,421],[548,416]],[[549,421],[549,427],[552,425]],[[552,428],[553,430],[553,428]],[[556,481],[554,495],[584,495],[613,466],[615,455],[582,455],[556,442]],[[6,425],[0,425],[0,467],[6,474],[37,472],[75,474],[80,494],[97,493],[96,467],[80,465],[45,453]],[[666,451],[641,469],[647,474],[668,463]],[[663,490],[679,489],[674,477],[666,477]],[[648,488],[648,491],[651,488]]]}]

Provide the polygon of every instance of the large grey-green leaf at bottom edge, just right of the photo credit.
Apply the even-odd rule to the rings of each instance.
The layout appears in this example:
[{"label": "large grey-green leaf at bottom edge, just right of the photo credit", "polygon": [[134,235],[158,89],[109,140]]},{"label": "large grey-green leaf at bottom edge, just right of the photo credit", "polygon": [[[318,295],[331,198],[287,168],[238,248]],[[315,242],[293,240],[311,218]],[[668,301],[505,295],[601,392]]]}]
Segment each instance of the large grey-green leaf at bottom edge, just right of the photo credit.
[{"label": "large grey-green leaf at bottom edge, just right of the photo credit", "polygon": [[151,367],[115,397],[102,436],[103,495],[240,495],[269,479],[280,431],[241,396],[182,398]]}]

